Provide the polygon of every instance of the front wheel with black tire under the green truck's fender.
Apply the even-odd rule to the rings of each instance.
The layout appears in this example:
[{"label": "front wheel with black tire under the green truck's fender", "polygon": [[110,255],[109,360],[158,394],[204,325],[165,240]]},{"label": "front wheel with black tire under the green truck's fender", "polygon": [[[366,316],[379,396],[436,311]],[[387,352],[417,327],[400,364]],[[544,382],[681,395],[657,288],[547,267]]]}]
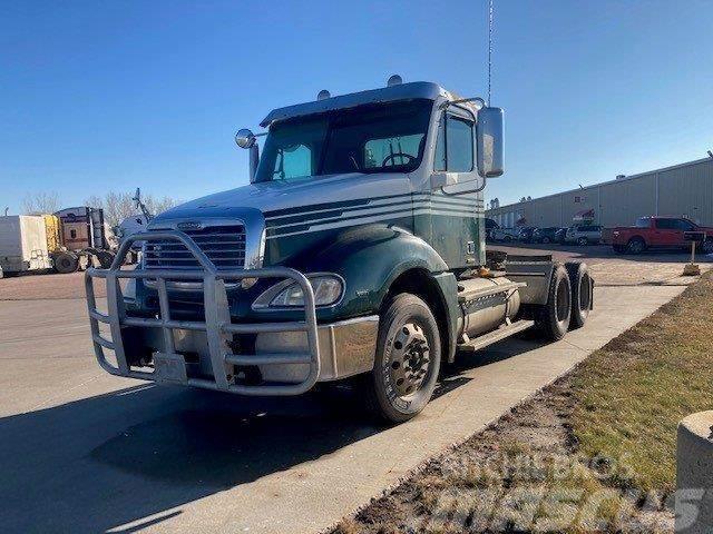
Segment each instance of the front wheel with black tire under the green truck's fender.
[{"label": "front wheel with black tire under the green truck's fender", "polygon": [[398,295],[381,315],[374,367],[363,377],[367,407],[389,423],[410,419],[431,399],[440,366],[433,314],[416,295]]}]

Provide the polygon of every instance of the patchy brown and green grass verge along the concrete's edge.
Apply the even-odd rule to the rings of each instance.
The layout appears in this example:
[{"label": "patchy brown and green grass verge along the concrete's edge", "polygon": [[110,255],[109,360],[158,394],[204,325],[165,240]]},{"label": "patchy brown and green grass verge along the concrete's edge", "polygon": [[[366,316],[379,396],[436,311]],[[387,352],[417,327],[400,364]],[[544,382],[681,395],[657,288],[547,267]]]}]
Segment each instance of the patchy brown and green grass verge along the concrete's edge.
[{"label": "patchy brown and green grass verge along the concrete's edge", "polygon": [[[713,405],[712,297],[713,271],[333,532],[453,534],[457,516],[469,532],[507,531],[510,513],[536,532],[667,532],[655,500],[675,490],[676,426]],[[522,492],[541,500],[504,505]],[[548,497],[567,493],[569,515],[548,527]]]}]

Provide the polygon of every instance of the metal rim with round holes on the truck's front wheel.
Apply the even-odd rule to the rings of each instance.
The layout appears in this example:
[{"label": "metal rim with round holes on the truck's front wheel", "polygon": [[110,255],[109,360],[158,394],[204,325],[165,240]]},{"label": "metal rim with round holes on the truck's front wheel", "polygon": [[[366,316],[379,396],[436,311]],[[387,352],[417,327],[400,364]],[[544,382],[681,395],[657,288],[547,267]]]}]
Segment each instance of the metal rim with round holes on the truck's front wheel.
[{"label": "metal rim with round holes on the truck's front wheel", "polygon": [[407,323],[399,329],[393,339],[390,374],[400,397],[413,395],[426,382],[430,352],[428,338],[419,325]]}]

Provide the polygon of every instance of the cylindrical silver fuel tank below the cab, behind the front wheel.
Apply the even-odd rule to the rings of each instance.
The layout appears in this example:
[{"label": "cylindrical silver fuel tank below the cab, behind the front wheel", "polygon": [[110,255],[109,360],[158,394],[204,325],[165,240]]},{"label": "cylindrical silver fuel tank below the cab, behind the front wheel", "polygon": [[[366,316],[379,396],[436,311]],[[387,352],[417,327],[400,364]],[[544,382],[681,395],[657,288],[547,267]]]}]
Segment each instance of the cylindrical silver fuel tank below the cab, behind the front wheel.
[{"label": "cylindrical silver fuel tank below the cab, behind the front wheel", "polygon": [[514,319],[520,310],[522,285],[505,277],[459,280],[459,336],[476,337]]}]

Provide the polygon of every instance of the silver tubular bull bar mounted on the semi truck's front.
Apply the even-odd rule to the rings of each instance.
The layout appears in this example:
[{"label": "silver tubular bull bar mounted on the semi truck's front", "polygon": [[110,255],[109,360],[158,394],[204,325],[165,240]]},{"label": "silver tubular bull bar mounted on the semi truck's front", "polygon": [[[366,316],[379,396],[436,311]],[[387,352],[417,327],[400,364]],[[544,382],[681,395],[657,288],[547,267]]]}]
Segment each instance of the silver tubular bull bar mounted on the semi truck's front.
[{"label": "silver tubular bull bar mounted on the semi truck's front", "polygon": [[[124,257],[134,241],[172,239],[183,244],[196,258],[202,270],[182,271],[172,269],[121,270]],[[94,291],[94,278],[105,278],[107,284],[107,315],[97,309]],[[155,281],[158,294],[159,314],[156,318],[128,317],[124,295],[119,285],[121,278],[150,279]],[[226,280],[245,278],[290,278],[296,281],[304,295],[304,320],[279,323],[232,323]],[[205,322],[175,320],[170,316],[168,288],[166,280],[193,280],[203,283],[203,304]],[[97,362],[107,373],[160,383],[185,384],[242,395],[300,395],[307,392],[320,375],[320,348],[318,343],[316,312],[314,291],[307,278],[300,271],[287,267],[267,267],[260,269],[219,270],[203,250],[186,234],[177,230],[134,234],[127,237],[108,269],[89,268],[85,274],[87,308],[91,327]],[[99,330],[99,323],[109,325],[111,339],[106,339]],[[125,353],[121,329],[124,327],[160,328],[164,353],[154,353],[154,370],[131,369]],[[214,379],[189,377],[186,374],[184,358],[176,354],[174,330],[199,330],[206,333],[211,367]],[[303,353],[276,354],[234,354],[231,349],[233,334],[260,334],[276,332],[304,332],[307,350]],[[117,366],[107,360],[105,348],[114,350]],[[309,364],[306,378],[296,384],[244,385],[233,383],[233,366],[256,365],[297,365]],[[182,368],[183,365],[183,368]]]}]

